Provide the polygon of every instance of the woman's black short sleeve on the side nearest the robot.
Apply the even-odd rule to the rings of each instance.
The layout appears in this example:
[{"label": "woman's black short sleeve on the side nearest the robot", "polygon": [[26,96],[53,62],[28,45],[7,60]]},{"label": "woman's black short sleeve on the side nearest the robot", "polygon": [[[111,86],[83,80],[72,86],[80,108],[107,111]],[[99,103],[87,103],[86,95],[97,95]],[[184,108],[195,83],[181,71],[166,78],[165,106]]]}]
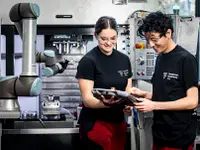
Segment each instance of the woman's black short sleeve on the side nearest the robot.
[{"label": "woman's black short sleeve on the side nearest the robot", "polygon": [[94,80],[95,78],[95,64],[94,62],[88,58],[83,57],[77,66],[77,73],[76,73],[77,79],[88,79],[88,80]]}]

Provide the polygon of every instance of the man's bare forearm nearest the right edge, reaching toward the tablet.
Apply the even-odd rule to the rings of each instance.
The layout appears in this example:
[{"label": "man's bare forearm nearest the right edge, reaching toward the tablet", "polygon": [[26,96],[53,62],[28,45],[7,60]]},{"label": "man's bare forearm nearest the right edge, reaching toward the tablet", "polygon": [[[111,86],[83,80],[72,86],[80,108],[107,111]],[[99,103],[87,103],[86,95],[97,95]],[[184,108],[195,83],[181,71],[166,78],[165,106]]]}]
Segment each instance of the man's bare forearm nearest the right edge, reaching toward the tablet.
[{"label": "man's bare forearm nearest the right edge, reaching toward the tablet", "polygon": [[154,110],[190,110],[196,108],[198,100],[191,100],[187,97],[175,101],[154,102]]}]

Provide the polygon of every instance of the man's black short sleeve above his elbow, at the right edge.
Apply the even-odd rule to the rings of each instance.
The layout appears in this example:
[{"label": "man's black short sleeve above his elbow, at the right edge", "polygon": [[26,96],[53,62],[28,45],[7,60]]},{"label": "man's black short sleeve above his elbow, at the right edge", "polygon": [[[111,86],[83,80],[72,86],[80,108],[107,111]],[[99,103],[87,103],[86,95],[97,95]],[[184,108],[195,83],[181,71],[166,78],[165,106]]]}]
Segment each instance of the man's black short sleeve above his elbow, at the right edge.
[{"label": "man's black short sleeve above his elbow, at the right edge", "polygon": [[198,84],[197,60],[193,55],[189,55],[184,58],[183,80],[186,90],[188,90],[192,86],[197,86]]}]

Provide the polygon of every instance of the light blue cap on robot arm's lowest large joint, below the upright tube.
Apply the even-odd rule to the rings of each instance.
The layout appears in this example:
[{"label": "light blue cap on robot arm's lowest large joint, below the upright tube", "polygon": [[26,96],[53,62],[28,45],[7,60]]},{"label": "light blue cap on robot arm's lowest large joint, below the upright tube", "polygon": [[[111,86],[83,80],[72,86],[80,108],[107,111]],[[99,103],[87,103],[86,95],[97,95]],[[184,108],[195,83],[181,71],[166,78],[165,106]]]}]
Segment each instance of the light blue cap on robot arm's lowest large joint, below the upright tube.
[{"label": "light blue cap on robot arm's lowest large joint, below the upright tube", "polygon": [[30,89],[30,96],[38,96],[41,90],[42,90],[42,80],[40,78],[36,78]]}]

